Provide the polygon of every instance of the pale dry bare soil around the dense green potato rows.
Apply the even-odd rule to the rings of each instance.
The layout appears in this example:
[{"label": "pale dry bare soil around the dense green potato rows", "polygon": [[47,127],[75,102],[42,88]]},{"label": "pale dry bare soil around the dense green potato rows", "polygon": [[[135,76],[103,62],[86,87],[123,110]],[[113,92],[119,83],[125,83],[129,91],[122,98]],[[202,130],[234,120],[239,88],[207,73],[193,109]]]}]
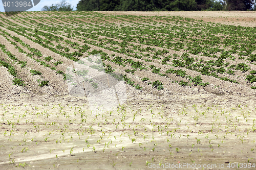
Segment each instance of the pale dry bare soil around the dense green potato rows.
[{"label": "pale dry bare soil around the dense green potato rows", "polygon": [[[176,15],[207,22],[255,27],[255,13],[252,12],[101,13]],[[15,15],[13,18],[0,15],[1,33],[6,31],[10,34],[0,35],[1,44],[19,61],[27,62],[24,68],[14,63],[19,77],[25,81],[25,86],[14,85],[14,77],[8,72],[8,68],[0,67],[0,169],[256,168],[255,90],[248,88],[248,83],[235,84],[203,75],[203,81],[210,83],[205,87],[180,86],[150,71],[138,70],[135,74],[127,75],[133,81],[143,77],[149,77],[152,81],[161,80],[165,88],[157,90],[140,82],[142,89],[139,90],[126,84],[126,102],[111,111],[101,111],[95,115],[86,96],[69,94],[67,82],[61,74],[56,75],[50,67],[44,67],[20,53],[19,48],[8,39],[16,36],[40,51],[42,57],[51,56],[52,62],[62,61],[56,65],[57,70],[65,71],[73,61],[7,29],[7,20],[23,27],[32,24],[33,22],[23,19],[25,14],[18,14],[20,20],[14,19]],[[36,17],[47,17],[46,15],[45,12],[30,12],[24,18],[38,19],[36,22],[39,23],[43,21],[43,17]],[[49,24],[54,23],[50,17],[47,19]],[[69,19],[61,22],[70,23]],[[81,43],[67,37],[64,39]],[[16,46],[23,47],[20,42]],[[90,52],[96,49],[108,55],[116,54],[92,44],[89,46]],[[144,47],[146,46],[150,45]],[[75,52],[73,48],[69,48],[71,52]],[[27,48],[23,49],[29,53]],[[159,49],[162,50],[160,47]],[[183,52],[170,50],[169,53],[182,55]],[[0,56],[3,61],[10,61],[3,50],[0,51]],[[125,57],[123,54],[120,56]],[[199,55],[197,57],[207,58]],[[236,59],[229,62],[236,64],[238,61]],[[106,64],[108,62],[105,61]],[[153,62],[161,69],[173,68],[170,65],[161,65],[156,60]],[[111,65],[124,73],[122,66],[115,63]],[[255,67],[254,64],[250,66]],[[132,69],[130,66],[125,68]],[[36,69],[42,75],[32,76],[30,69]],[[189,75],[198,75],[196,71],[186,71]],[[241,72],[237,74],[244,76]],[[239,79],[237,76],[230,78],[244,81],[244,77]],[[170,75],[169,78],[184,80],[175,75]],[[40,87],[37,79],[49,80],[50,83]]]}]

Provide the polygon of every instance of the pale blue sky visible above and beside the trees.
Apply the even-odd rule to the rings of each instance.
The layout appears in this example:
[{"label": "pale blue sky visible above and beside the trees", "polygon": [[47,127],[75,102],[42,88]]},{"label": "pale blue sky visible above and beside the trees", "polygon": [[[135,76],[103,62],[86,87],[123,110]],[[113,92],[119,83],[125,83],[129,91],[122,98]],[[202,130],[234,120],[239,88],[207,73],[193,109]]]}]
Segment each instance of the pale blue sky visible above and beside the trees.
[{"label": "pale blue sky visible above and beside the trees", "polygon": [[[20,1],[20,0],[18,0]],[[67,3],[71,4],[73,8],[73,10],[76,10],[76,5],[78,4],[80,0],[66,0]],[[6,2],[8,2],[8,0],[6,0]],[[14,1],[15,2],[15,1]],[[41,11],[42,7],[44,6],[51,6],[52,4],[59,4],[61,2],[61,0],[58,1],[51,1],[51,0],[41,0],[36,6],[34,6],[33,8],[27,10],[27,11]],[[3,3],[0,1],[0,12],[5,12]]]}]

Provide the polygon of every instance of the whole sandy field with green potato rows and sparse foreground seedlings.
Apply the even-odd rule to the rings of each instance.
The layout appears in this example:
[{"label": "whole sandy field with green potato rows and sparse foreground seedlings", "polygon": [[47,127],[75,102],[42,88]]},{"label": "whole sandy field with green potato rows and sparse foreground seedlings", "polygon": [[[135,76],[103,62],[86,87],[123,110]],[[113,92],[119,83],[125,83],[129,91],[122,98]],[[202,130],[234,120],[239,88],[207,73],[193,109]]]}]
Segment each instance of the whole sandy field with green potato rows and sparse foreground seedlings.
[{"label": "whole sandy field with green potato rows and sparse foreground seedlings", "polygon": [[207,12],[0,13],[0,169],[256,169],[256,13]]}]

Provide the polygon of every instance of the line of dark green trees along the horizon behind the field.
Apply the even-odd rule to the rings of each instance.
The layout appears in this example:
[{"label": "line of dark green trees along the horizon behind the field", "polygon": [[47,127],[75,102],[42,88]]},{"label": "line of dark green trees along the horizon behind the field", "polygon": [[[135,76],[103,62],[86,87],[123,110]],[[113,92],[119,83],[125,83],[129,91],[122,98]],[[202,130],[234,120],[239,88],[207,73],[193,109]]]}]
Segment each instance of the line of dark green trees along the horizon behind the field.
[{"label": "line of dark green trees along the horizon behind the field", "polygon": [[[220,11],[256,10],[254,0],[80,0],[77,11]],[[42,11],[72,11],[71,4],[44,6]]]}]

